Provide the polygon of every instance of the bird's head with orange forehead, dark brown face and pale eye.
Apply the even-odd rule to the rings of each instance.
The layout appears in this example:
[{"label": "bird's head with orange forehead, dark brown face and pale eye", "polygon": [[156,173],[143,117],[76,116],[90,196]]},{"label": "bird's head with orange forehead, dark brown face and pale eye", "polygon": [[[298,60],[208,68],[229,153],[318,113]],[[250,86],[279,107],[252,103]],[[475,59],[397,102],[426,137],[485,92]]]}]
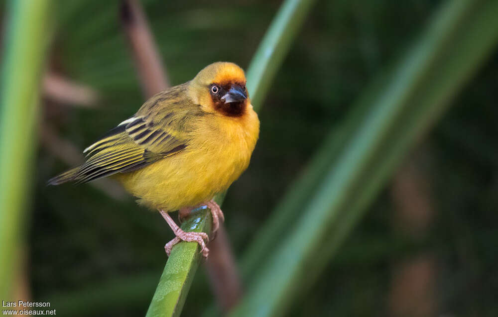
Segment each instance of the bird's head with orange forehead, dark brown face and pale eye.
[{"label": "bird's head with orange forehead, dark brown face and pale eye", "polygon": [[213,63],[201,70],[190,82],[189,95],[204,111],[230,117],[244,115],[250,105],[244,71],[228,62]]}]

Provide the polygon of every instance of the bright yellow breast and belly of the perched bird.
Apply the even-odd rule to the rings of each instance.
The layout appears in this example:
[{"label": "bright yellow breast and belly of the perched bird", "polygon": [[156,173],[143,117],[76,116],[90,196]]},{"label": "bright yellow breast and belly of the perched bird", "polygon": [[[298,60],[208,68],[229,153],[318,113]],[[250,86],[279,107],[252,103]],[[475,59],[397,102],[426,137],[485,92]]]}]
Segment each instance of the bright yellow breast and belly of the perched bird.
[{"label": "bright yellow breast and belly of the perched bird", "polygon": [[152,209],[175,211],[210,200],[249,166],[259,120],[252,106],[248,110],[242,117],[206,116],[184,151],[115,178]]}]

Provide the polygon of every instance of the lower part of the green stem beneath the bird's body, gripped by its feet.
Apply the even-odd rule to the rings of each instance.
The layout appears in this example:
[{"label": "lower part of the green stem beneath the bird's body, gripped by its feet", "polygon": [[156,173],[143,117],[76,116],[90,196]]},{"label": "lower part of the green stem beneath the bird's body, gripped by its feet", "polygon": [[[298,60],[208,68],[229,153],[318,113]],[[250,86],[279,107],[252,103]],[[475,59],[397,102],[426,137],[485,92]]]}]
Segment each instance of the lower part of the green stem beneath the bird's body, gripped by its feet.
[{"label": "lower part of the green stem beneath the bird's body, gripped by its feet", "polygon": [[[192,212],[181,228],[184,231],[209,233],[211,222],[211,212],[203,209]],[[147,317],[180,316],[201,259],[197,242],[182,242],[173,247],[150,302]]]}]

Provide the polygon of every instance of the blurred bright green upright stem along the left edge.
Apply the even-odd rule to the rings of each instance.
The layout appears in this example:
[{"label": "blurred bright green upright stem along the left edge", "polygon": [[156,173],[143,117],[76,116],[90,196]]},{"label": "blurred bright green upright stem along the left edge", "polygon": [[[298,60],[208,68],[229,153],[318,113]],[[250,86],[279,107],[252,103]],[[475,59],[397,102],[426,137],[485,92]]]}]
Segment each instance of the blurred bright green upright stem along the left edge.
[{"label": "blurred bright green upright stem along the left edge", "polygon": [[9,299],[29,202],[48,0],[7,4],[0,87],[0,299]]}]

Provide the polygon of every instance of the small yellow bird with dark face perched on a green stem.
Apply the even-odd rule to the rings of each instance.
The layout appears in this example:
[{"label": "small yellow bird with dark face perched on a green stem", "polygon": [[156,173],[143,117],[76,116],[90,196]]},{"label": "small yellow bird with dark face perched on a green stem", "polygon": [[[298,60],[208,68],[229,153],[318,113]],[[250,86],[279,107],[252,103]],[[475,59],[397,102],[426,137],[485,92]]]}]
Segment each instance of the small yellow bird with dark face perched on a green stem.
[{"label": "small yellow bird with dark face perched on a green stem", "polygon": [[244,70],[216,62],[191,81],[147,100],[83,153],[85,162],[48,181],[77,184],[110,177],[157,210],[175,233],[164,246],[169,256],[180,241],[197,242],[208,257],[204,232],[185,232],[169,215],[180,219],[207,206],[213,230],[224,214],[213,197],[224,192],[248,168],[259,137],[259,119],[246,88]]}]

